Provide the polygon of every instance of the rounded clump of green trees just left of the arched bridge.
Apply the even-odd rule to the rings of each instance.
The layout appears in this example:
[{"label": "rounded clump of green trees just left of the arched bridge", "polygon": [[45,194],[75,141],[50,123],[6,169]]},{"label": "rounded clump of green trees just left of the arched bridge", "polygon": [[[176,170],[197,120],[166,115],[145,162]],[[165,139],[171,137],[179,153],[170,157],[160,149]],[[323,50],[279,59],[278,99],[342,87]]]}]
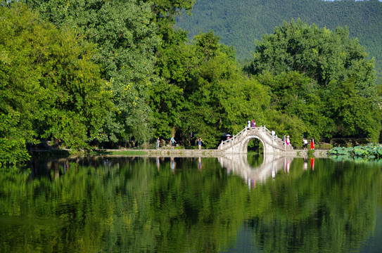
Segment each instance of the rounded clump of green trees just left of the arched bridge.
[{"label": "rounded clump of green trees just left of the arched bridge", "polygon": [[269,91],[238,69],[234,49],[219,44],[209,32],[185,44],[179,33],[177,47],[163,51],[157,70],[163,82],[152,91],[158,136],[177,134],[185,145],[196,137],[208,148],[219,144],[222,132],[237,132],[246,121],[263,118]]}]

